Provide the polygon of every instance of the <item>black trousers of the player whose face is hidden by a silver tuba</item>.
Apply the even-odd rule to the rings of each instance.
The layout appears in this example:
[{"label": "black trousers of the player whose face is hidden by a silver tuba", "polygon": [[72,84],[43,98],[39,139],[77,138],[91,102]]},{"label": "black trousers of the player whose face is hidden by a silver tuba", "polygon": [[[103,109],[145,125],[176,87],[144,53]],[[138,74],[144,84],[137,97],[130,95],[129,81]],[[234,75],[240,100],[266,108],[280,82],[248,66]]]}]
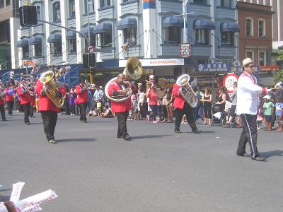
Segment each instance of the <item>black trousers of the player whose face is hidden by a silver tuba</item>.
[{"label": "black trousers of the player whose face is hidden by a silver tuba", "polygon": [[193,109],[184,102],[183,109],[175,109],[175,130],[180,130],[180,124],[182,122],[183,115],[185,114],[187,118],[187,123],[190,125],[192,131],[197,131],[197,126],[195,125],[195,119],[193,114]]}]

